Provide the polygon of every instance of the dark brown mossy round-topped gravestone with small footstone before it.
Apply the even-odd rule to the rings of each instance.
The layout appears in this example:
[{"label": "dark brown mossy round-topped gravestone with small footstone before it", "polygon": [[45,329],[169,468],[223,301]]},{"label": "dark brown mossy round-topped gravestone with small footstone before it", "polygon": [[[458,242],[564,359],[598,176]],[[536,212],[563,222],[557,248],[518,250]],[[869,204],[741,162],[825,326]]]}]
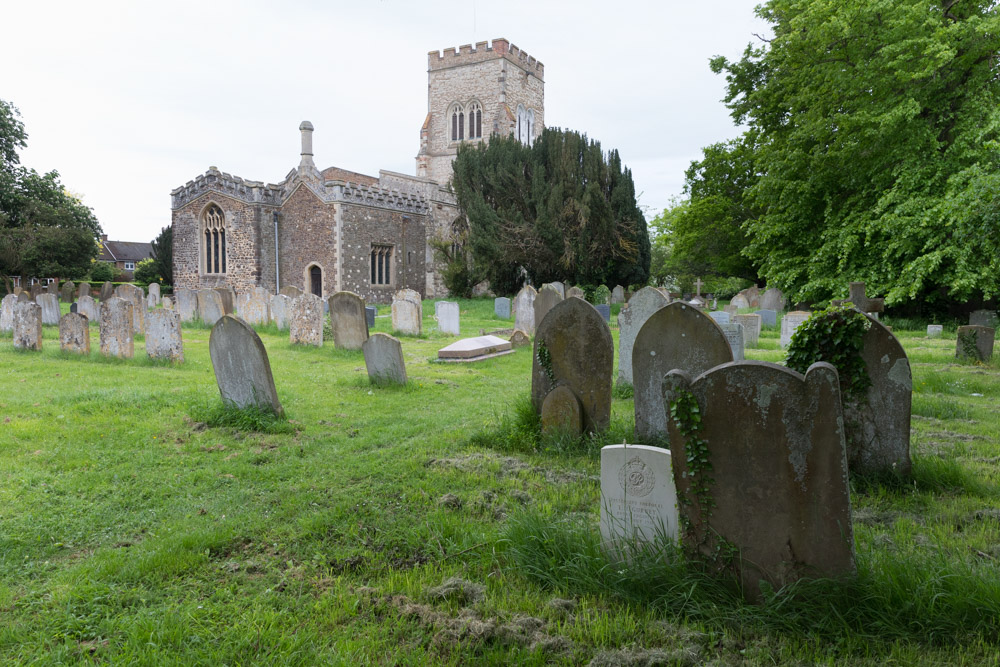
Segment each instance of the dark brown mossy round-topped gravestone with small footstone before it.
[{"label": "dark brown mossy round-topped gravestone with small footstone before it", "polygon": [[[539,298],[547,292],[555,290],[542,288]],[[550,391],[566,385],[580,400],[584,429],[606,429],[611,421],[614,354],[611,328],[593,306],[583,299],[559,301],[539,321],[535,332],[531,367],[535,412],[541,413]]]}]

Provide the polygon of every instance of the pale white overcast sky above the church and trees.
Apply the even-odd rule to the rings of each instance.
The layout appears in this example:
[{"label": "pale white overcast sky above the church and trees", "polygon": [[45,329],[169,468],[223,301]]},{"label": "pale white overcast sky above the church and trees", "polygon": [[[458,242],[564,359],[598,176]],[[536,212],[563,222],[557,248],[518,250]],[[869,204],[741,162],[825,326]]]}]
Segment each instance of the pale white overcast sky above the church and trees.
[{"label": "pale white overcast sky above the church and trees", "polygon": [[170,224],[170,191],[209,166],[277,183],[298,164],[415,173],[427,52],[504,37],[545,64],[549,126],[617,148],[651,218],[700,149],[738,134],[714,55],[766,25],[754,2],[535,0],[17,2],[0,99],[22,164],[56,169],[112,240]]}]

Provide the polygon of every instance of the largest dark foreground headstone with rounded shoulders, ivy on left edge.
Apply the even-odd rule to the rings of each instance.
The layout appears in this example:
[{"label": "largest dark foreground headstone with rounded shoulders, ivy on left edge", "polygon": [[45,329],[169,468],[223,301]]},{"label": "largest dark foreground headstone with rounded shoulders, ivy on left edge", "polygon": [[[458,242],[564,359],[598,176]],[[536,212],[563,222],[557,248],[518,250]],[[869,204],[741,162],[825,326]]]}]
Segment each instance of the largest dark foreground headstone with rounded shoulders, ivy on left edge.
[{"label": "largest dark foreground headstone with rounded shoulders, ivy on left edge", "polygon": [[671,371],[663,400],[669,405],[684,395],[693,396],[701,416],[698,438],[708,460],[692,465],[686,426],[671,418],[682,544],[710,559],[717,549],[734,548],[751,598],[759,597],[761,581],[778,589],[806,577],[853,574],[836,369],[820,362],[803,376],[743,361],[693,380]]}]

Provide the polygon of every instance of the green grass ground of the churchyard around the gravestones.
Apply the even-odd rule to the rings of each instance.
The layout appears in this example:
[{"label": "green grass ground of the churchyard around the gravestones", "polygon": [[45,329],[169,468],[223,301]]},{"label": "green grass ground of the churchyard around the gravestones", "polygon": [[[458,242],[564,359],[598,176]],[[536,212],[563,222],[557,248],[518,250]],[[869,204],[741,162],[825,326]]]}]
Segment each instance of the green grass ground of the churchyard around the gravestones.
[{"label": "green grass ground of the churchyard around the gravestones", "polygon": [[[511,326],[461,308],[464,335]],[[106,360],[96,327],[88,358],[55,327],[40,354],[0,337],[0,663],[997,662],[1000,365],[955,363],[953,327],[896,323],[915,473],[852,480],[858,579],[751,605],[676,559],[603,560],[598,451],[627,391],[605,438],[538,442],[531,348],[428,363],[454,337],[424,313],[403,388],[263,329],[287,422],[218,409],[207,328],[177,366],[141,339]],[[777,338],[748,357],[779,361]]]}]

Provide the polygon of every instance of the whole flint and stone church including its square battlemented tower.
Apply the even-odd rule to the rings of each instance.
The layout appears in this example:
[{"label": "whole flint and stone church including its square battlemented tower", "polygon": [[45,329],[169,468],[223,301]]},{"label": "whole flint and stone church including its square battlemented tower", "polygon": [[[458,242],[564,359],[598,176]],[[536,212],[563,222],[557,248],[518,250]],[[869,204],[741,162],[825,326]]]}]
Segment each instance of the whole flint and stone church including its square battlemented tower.
[{"label": "whole flint and stone church including its square battlemented tower", "polygon": [[294,285],[323,298],[348,290],[369,303],[388,303],[403,288],[444,296],[429,241],[454,237],[459,212],[447,185],[458,146],[491,134],[530,144],[543,127],[542,63],[505,39],[432,51],[415,176],[320,170],[304,121],[299,164],[282,182],[210,167],[170,193],[174,287],[277,293]]}]

